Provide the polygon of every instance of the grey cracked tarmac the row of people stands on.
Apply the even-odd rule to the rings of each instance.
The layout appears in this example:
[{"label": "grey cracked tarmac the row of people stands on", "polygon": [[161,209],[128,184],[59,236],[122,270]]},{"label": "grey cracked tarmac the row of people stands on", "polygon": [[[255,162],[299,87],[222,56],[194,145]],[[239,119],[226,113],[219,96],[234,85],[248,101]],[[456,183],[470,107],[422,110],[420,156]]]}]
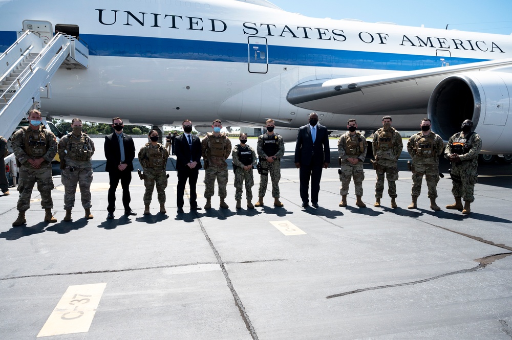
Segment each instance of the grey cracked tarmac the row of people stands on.
[{"label": "grey cracked tarmac the row of people stands on", "polygon": [[[109,220],[103,140],[94,142],[94,219],[84,218],[77,192],[73,221],[62,221],[59,175],[57,223],[42,222],[34,190],[27,225],[13,228],[17,191],[0,197],[0,339],[512,339],[510,165],[479,167],[472,212],[462,215],[444,208],[453,203],[449,163],[441,162],[442,210],[434,212],[424,182],[418,209],[407,209],[407,152],[399,161],[399,208],[391,208],[387,184],[382,207],[373,207],[376,176],[367,160],[368,207],[355,206],[351,183],[349,207],[340,208],[331,139],[320,207],[303,209],[295,143],[286,143],[283,208],[272,206],[269,180],[263,208],[234,209],[230,170],[229,209],[214,196],[211,210],[190,211],[185,199],[177,213],[172,156],[167,213],[158,213],[155,190],[151,215],[142,214],[144,186],[134,172],[137,216],[121,215],[119,186]],[[135,143],[138,152],[145,139]],[[201,206],[203,178],[200,171]]]}]

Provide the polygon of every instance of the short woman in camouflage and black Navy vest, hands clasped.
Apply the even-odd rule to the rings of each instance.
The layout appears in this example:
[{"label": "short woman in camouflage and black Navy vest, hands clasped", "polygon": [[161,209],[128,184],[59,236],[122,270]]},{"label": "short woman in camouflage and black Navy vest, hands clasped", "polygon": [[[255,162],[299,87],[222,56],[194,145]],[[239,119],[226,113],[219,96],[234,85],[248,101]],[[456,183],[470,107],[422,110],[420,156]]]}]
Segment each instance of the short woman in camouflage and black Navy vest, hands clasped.
[{"label": "short woman in camouflage and black Navy vest, hands clasped", "polygon": [[247,143],[247,133],[240,133],[240,144],[233,148],[233,171],[234,171],[234,188],[236,192],[234,199],[237,200],[237,209],[242,209],[242,187],[245,180],[245,196],[247,198],[247,208],[253,209],[252,186],[254,178],[252,177],[252,169],[256,165],[256,152]]}]

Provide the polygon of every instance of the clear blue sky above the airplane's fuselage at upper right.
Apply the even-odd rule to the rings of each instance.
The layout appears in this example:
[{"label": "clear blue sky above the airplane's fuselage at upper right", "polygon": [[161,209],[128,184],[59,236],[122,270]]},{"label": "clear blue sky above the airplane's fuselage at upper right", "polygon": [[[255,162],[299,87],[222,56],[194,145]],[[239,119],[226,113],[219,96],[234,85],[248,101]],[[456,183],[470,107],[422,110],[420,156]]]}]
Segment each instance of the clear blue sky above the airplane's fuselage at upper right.
[{"label": "clear blue sky above the airplane's fuselage at upper right", "polygon": [[[510,0],[269,0],[287,12],[332,19],[394,22],[427,28],[512,33]],[[512,38],[512,37],[511,37]]]}]

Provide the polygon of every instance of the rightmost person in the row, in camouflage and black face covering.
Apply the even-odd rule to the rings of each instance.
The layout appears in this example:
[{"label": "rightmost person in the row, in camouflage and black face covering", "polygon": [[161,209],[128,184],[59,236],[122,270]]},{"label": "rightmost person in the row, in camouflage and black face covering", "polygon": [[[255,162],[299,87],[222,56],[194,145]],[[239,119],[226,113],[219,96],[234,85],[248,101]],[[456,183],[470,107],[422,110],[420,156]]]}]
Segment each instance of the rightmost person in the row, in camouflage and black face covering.
[{"label": "rightmost person in the row, in camouflage and black face covering", "polygon": [[[462,131],[455,133],[444,150],[444,157],[452,162],[450,175],[452,177],[452,193],[455,203],[447,205],[446,209],[462,209],[463,214],[471,212],[471,202],[475,200],[473,191],[477,183],[478,153],[482,149],[480,136],[473,132],[473,122],[466,119],[462,122]],[[464,207],[462,200],[464,199]]]}]

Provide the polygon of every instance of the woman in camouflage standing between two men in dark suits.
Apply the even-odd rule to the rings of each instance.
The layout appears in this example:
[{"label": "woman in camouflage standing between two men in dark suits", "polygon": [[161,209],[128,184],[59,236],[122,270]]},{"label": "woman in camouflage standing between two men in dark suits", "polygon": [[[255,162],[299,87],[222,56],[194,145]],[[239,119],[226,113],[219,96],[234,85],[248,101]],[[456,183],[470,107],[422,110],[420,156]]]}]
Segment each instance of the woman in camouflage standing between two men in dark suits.
[{"label": "woman in camouflage standing between two men in dark suits", "polygon": [[157,187],[158,201],[160,202],[160,212],[165,214],[165,188],[167,188],[167,158],[169,152],[160,143],[158,143],[158,131],[151,130],[147,135],[150,142],[146,143],[139,151],[139,162],[144,170],[144,215],[150,214],[150,203],[153,196],[153,188]]}]

